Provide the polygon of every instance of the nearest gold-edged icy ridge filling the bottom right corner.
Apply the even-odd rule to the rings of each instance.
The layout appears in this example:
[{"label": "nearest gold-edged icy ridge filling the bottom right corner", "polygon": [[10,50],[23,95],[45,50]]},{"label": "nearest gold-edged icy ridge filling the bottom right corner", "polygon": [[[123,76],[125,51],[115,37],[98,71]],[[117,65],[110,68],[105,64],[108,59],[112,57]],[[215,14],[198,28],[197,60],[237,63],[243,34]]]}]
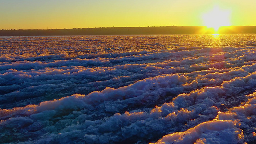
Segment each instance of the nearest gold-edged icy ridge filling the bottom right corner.
[{"label": "nearest gold-edged icy ridge filling the bottom right corner", "polygon": [[256,141],[256,93],[217,117],[184,132],[163,136],[156,144],[242,144]]}]

